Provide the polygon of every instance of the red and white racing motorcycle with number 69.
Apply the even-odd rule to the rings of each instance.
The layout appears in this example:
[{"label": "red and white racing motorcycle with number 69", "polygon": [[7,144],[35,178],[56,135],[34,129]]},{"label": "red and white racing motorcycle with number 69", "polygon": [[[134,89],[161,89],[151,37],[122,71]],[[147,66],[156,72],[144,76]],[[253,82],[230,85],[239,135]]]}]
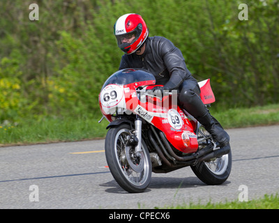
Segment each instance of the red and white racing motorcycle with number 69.
[{"label": "red and white racing motorcycle with number 69", "polygon": [[[144,192],[152,172],[190,166],[207,185],[224,183],[232,168],[229,144],[220,147],[177,105],[177,91],[154,95],[154,86],[156,79],[148,70],[124,69],[111,75],[100,91],[100,121],[110,122],[105,157],[116,182],[127,192]],[[215,102],[210,79],[199,82],[199,87],[209,109]]]}]

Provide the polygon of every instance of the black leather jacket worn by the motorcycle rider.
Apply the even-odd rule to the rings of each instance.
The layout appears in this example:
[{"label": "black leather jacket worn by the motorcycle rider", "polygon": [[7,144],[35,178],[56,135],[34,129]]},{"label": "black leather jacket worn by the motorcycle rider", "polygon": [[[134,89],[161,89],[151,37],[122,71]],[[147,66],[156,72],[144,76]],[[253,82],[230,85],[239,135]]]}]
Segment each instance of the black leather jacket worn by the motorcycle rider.
[{"label": "black leather jacket worn by the motorcycle rider", "polygon": [[186,79],[194,79],[186,67],[183,55],[167,38],[154,36],[146,39],[144,54],[124,54],[119,70],[124,68],[143,68],[149,70],[156,84],[164,85],[164,89],[178,89]]}]

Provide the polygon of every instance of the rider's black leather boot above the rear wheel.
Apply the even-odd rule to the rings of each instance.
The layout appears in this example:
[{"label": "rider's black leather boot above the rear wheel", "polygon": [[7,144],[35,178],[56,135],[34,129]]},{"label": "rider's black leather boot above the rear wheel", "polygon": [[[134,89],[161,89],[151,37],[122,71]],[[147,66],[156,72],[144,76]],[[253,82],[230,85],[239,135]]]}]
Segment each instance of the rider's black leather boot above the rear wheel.
[{"label": "rider's black leather boot above the rear wheel", "polygon": [[220,147],[224,147],[229,144],[229,134],[227,134],[220,123],[216,121],[216,118],[213,118],[209,112],[206,112],[204,116],[197,118],[197,121],[204,125],[206,131],[211,134],[213,139],[218,141]]}]

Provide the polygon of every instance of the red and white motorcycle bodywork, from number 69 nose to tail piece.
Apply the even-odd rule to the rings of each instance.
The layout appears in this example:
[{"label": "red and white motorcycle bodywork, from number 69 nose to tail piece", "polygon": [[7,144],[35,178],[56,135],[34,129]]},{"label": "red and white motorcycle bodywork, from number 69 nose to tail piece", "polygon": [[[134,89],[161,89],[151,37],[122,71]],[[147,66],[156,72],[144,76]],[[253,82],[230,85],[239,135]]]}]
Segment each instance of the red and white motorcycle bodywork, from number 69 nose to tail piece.
[{"label": "red and white motorcycle bodywork, from number 69 nose to tail piece", "polygon": [[[128,75],[137,71],[126,69],[119,72]],[[118,72],[115,74],[118,74]],[[121,78],[119,77],[119,79]],[[145,79],[139,78],[139,80],[138,82],[123,85],[115,84],[114,82],[110,84],[110,81],[104,84],[99,95],[99,103],[101,112],[105,118],[112,122],[112,114],[119,108],[122,109],[122,112],[126,112],[126,114],[133,112],[133,114],[138,114],[146,122],[151,123],[164,132],[165,137],[174,148],[183,153],[195,153],[198,148],[197,135],[195,134],[197,123],[188,118],[177,105],[177,96],[164,95],[162,99],[158,99],[151,95],[146,95],[146,93],[140,93],[139,95],[137,88],[141,86],[143,91],[152,89],[155,86],[155,79],[146,77]],[[209,79],[199,84],[201,98],[204,104],[214,102],[215,98],[210,87]]]}]

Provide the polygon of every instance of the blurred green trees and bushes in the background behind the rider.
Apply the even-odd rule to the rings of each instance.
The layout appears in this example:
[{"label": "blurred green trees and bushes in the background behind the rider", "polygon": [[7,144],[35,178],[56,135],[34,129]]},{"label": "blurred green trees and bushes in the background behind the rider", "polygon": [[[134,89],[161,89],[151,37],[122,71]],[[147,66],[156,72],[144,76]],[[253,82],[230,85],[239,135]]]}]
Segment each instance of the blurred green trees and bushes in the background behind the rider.
[{"label": "blurred green trees and bushes in the background behind the rider", "polygon": [[[0,123],[100,114],[98,93],[122,55],[113,25],[125,13],[172,40],[194,77],[211,79],[220,109],[279,102],[278,0],[35,3],[30,21],[28,1],[0,1]],[[248,20],[238,19],[240,3]]]}]

